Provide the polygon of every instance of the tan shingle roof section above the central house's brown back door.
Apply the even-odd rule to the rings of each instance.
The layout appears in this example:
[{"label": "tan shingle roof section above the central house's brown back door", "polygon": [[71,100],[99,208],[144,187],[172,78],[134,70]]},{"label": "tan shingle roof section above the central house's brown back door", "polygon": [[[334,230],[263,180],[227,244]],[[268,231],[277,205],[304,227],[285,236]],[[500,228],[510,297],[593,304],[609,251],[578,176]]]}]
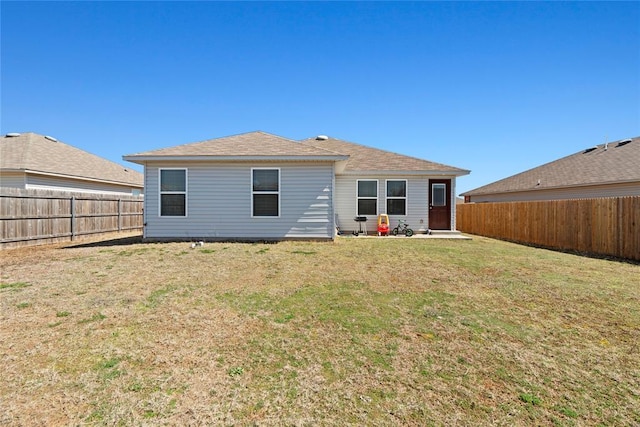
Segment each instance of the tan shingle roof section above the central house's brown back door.
[{"label": "tan shingle roof section above the central house's brown back door", "polygon": [[344,168],[344,173],[359,172],[430,172],[444,175],[467,175],[470,171],[453,166],[434,163],[415,157],[405,156],[378,148],[347,142],[336,138],[316,137],[301,141],[302,144],[324,148],[338,153],[346,154],[349,160]]}]

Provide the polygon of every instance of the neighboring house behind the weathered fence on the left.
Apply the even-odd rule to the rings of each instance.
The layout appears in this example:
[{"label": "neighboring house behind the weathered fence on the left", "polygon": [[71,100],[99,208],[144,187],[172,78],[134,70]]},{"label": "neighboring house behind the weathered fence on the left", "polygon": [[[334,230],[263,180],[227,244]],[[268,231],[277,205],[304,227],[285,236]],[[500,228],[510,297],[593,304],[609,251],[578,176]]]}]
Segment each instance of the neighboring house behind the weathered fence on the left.
[{"label": "neighboring house behind the weathered fence on the left", "polygon": [[51,136],[9,133],[0,138],[0,188],[140,195],[140,172]]}]

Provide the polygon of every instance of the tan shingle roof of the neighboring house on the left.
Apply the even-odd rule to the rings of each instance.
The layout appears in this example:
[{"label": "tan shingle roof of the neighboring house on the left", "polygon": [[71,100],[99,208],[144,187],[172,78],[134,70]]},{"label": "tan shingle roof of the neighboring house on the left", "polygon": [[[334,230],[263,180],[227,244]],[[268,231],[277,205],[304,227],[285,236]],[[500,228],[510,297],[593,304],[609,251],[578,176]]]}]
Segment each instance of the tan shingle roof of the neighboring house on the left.
[{"label": "tan shingle roof of the neighboring house on the left", "polygon": [[140,172],[72,147],[57,139],[26,132],[0,138],[0,169],[53,174],[74,179],[143,187]]}]

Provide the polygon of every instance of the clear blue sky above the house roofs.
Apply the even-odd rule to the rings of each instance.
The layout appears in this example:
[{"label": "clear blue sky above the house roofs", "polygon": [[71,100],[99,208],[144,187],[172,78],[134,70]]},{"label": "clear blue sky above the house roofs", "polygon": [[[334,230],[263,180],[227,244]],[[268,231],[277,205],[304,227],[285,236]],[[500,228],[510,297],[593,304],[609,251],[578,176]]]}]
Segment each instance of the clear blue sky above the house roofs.
[{"label": "clear blue sky above the house roofs", "polygon": [[470,169],[640,135],[640,2],[0,2],[0,131],[125,154],[254,130]]}]

